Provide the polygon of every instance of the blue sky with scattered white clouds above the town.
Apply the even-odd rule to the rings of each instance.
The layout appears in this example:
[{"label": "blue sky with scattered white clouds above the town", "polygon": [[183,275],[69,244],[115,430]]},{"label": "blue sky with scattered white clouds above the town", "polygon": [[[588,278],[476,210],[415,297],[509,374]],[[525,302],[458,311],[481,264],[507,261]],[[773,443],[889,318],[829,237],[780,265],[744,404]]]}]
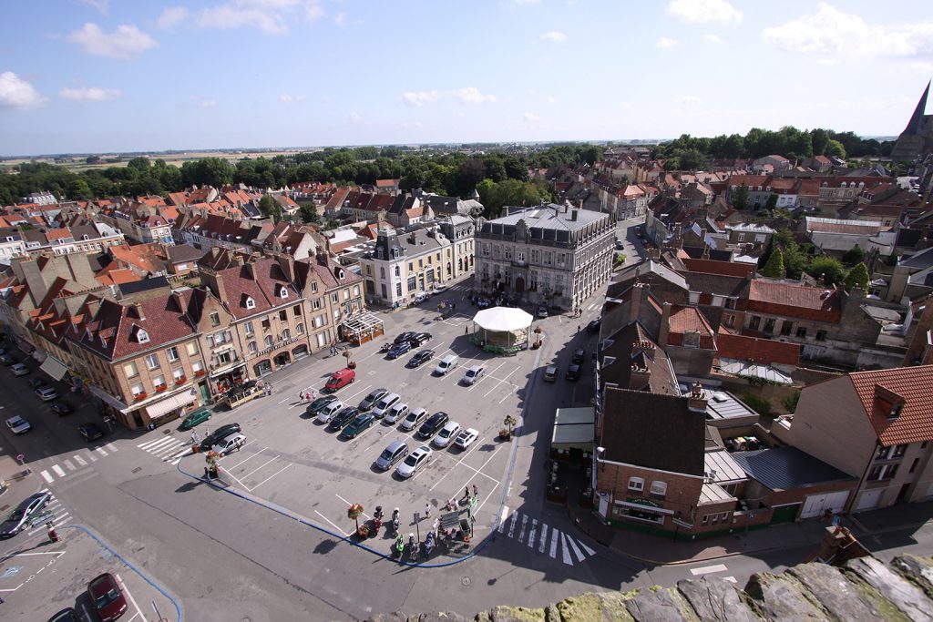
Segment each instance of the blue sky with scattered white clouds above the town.
[{"label": "blue sky with scattered white clouds above the town", "polygon": [[7,1],[0,156],[886,136],[930,76],[927,0]]}]

